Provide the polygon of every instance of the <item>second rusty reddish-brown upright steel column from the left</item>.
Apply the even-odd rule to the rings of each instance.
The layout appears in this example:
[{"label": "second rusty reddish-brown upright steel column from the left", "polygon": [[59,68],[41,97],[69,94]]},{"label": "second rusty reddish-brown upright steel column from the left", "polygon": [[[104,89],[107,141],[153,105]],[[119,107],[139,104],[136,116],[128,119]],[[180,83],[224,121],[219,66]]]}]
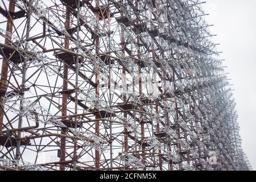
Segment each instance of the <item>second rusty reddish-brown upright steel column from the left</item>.
[{"label": "second rusty reddish-brown upright steel column from the left", "polygon": [[[71,10],[69,6],[66,6],[66,22],[65,22],[65,27],[70,28],[70,14]],[[64,48],[68,49],[70,46],[70,38],[69,36],[65,35],[64,38]],[[62,116],[67,115],[67,89],[68,89],[68,65],[64,64],[63,68],[63,94],[62,94]],[[66,119],[66,118],[64,118]],[[62,134],[66,134],[67,129],[62,128]],[[61,137],[60,138],[60,171],[64,171],[65,169],[65,158],[66,158],[66,138]]]}]

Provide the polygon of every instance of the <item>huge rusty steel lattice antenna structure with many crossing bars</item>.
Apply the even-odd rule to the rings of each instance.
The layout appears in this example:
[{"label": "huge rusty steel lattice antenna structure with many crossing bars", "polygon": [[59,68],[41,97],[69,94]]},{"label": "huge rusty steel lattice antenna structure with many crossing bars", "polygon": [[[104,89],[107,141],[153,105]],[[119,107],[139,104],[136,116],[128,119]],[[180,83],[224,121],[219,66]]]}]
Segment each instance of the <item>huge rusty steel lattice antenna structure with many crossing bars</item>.
[{"label": "huge rusty steel lattice antenna structure with many crossing bars", "polygon": [[247,170],[198,0],[1,0],[0,168]]}]

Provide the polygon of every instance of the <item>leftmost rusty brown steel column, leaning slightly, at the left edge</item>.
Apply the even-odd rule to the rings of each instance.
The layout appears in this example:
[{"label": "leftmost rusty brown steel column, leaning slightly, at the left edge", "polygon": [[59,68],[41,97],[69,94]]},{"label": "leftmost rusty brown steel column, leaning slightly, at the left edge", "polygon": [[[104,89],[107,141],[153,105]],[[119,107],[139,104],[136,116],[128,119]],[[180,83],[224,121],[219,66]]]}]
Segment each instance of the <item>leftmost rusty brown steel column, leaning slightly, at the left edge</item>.
[{"label": "leftmost rusty brown steel column, leaning slightly, at the left edge", "polygon": [[[14,13],[15,11],[15,2],[16,0],[11,0],[9,2],[9,13]],[[13,32],[13,16],[8,16],[6,31],[12,33]],[[10,38],[11,39],[11,38]],[[8,40],[5,40],[5,44],[8,44]],[[7,90],[7,76],[8,76],[8,60],[3,57],[2,62],[2,70],[1,70],[1,82],[0,82],[0,103],[3,102],[3,97],[5,97],[5,93]],[[4,110],[1,107],[0,109],[0,131],[3,129],[3,115]]]}]

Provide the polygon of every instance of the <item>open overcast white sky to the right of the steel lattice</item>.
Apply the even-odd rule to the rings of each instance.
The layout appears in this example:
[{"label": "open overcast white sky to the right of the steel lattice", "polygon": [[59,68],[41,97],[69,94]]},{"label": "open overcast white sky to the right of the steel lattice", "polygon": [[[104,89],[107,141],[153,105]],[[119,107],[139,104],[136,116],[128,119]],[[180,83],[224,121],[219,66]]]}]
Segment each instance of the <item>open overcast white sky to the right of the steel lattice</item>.
[{"label": "open overcast white sky to the right of the steel lattice", "polygon": [[[203,0],[202,0],[203,1]],[[237,102],[242,147],[256,169],[256,1],[205,0],[202,5]]]}]

